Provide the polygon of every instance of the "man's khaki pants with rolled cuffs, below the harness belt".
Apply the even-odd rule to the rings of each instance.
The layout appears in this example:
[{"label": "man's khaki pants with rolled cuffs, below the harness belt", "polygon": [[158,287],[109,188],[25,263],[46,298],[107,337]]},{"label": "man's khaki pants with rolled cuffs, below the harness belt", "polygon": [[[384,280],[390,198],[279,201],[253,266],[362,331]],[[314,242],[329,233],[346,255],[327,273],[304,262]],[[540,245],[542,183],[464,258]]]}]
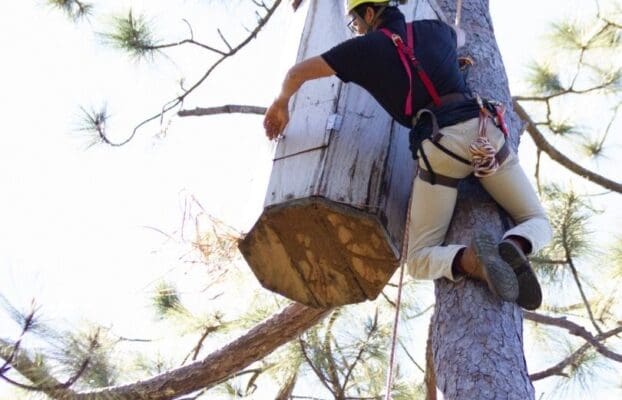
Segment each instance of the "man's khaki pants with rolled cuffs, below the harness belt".
[{"label": "man's khaki pants with rolled cuffs, below the harness belt", "polygon": [[[469,145],[478,136],[478,118],[441,129],[440,143],[457,155],[471,159]],[[497,149],[505,138],[489,120],[487,135]],[[429,140],[423,142],[423,149],[435,173],[452,178],[464,178],[473,172],[469,165],[445,154]],[[424,168],[419,157],[419,168]],[[546,214],[540,205],[529,180],[511,152],[496,173],[480,179],[486,191],[501,205],[516,222],[516,226],[505,233],[504,238],[517,235],[531,243],[532,253],[537,252],[551,239],[552,231]],[[442,246],[449,222],[456,205],[455,188],[431,185],[417,176],[413,187],[413,204],[410,208],[410,226],[407,266],[410,275],[417,279],[448,278],[456,280],[451,265],[456,253],[463,245]]]}]

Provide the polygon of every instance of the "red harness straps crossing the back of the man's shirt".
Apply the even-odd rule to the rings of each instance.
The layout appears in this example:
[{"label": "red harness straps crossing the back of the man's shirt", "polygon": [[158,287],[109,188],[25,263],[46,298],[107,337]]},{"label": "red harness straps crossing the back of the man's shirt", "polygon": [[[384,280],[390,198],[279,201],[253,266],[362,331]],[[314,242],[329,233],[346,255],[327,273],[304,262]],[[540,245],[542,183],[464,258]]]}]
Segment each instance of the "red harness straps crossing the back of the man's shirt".
[{"label": "red harness straps crossing the back of the man's shirt", "polygon": [[404,106],[404,114],[407,117],[413,115],[413,106],[412,106],[412,70],[409,65],[410,64],[415,67],[417,70],[417,75],[419,75],[419,79],[423,83],[426,91],[432,97],[432,102],[436,107],[441,105],[441,98],[436,92],[436,88],[434,84],[430,80],[430,77],[419,64],[419,60],[415,57],[415,44],[414,44],[414,36],[413,36],[413,27],[412,23],[409,22],[406,24],[406,40],[408,41],[408,46],[404,45],[404,41],[400,37],[400,35],[391,32],[387,28],[380,29],[380,32],[384,33],[386,37],[393,41],[393,44],[397,48],[397,54],[400,56],[400,60],[404,65],[404,69],[406,70],[406,74],[408,75],[408,95],[406,97],[406,103]]}]

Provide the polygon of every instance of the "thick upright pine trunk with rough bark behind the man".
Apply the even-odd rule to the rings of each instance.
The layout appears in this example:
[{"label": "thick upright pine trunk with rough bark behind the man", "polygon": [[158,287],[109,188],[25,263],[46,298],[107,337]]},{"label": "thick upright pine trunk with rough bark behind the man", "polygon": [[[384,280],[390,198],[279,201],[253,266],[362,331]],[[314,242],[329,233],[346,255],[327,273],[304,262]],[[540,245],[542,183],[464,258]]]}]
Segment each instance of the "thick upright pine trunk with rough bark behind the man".
[{"label": "thick upright pine trunk with rough bark behind the man", "polygon": [[[447,17],[456,14],[455,0],[438,2]],[[520,123],[512,111],[507,77],[497,47],[488,0],[464,0],[462,28],[467,43],[462,52],[475,65],[469,85],[482,97],[502,101],[514,149]],[[462,182],[447,243],[468,244],[475,231],[500,237],[507,218],[475,179]],[[432,346],[437,386],[445,399],[532,399],[534,389],[523,354],[520,308],[495,298],[481,283],[436,282]]]}]

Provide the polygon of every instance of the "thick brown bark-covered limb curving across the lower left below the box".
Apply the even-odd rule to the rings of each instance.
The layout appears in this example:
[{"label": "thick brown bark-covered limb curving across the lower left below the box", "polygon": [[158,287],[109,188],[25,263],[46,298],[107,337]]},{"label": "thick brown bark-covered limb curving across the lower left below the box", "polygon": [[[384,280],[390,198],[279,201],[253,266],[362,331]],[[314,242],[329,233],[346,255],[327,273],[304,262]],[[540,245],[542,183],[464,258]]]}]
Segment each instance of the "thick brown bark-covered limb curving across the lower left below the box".
[{"label": "thick brown bark-covered limb curving across the lower left below the box", "polygon": [[[42,391],[55,399],[168,400],[212,387],[226,380],[237,371],[298,337],[318,323],[327,312],[325,309],[292,304],[203,360],[144,381],[89,392],[78,393],[70,389],[52,388],[51,386],[58,387],[58,381],[40,368],[35,368],[34,362],[24,354],[20,355],[13,367],[31,381],[43,382]],[[0,346],[0,357],[7,358],[9,355],[9,348]]]}]

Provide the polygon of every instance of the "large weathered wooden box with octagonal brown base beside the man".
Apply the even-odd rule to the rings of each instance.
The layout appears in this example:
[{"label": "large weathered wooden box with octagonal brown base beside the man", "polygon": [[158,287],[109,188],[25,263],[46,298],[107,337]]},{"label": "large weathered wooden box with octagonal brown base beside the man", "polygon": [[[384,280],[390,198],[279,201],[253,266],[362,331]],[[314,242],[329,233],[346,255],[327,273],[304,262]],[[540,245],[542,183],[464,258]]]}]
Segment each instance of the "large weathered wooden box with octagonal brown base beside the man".
[{"label": "large weathered wooden box with octagonal brown base beside the man", "polygon": [[[350,34],[343,2],[309,2],[298,60]],[[409,2],[411,18],[433,16]],[[375,299],[401,254],[414,162],[408,130],[356,85],[305,84],[279,142],[265,209],[240,243],[261,284],[313,307]]]}]

